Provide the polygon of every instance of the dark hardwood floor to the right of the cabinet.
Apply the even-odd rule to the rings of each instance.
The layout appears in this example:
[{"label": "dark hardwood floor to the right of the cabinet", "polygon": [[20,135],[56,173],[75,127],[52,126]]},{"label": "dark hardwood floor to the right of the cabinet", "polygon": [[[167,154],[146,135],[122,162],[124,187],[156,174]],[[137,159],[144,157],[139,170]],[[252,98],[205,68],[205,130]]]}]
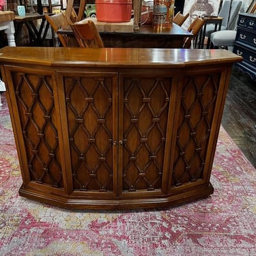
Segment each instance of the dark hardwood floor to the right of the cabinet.
[{"label": "dark hardwood floor to the right of the cabinet", "polygon": [[222,125],[256,168],[256,82],[233,67]]}]

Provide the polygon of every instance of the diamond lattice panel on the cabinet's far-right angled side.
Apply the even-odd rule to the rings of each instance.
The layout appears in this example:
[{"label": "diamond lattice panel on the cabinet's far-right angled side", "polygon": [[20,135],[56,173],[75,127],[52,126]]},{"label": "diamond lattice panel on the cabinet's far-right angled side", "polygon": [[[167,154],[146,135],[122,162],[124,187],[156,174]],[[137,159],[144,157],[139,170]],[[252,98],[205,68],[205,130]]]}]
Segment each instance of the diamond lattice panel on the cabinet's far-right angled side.
[{"label": "diamond lattice panel on the cabinet's far-right angled side", "polygon": [[173,165],[173,186],[202,178],[219,79],[216,74],[190,77],[184,81]]}]

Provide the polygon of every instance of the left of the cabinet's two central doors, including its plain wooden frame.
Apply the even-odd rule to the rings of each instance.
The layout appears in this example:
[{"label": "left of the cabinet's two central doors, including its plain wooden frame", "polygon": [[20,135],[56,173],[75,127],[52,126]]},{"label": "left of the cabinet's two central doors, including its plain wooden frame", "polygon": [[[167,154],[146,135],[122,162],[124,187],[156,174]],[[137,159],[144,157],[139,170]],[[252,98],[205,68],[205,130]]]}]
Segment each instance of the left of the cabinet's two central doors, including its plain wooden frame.
[{"label": "left of the cabinet's two central doors, including its plain wooden frame", "polygon": [[117,73],[59,75],[69,193],[112,197],[117,190]]}]

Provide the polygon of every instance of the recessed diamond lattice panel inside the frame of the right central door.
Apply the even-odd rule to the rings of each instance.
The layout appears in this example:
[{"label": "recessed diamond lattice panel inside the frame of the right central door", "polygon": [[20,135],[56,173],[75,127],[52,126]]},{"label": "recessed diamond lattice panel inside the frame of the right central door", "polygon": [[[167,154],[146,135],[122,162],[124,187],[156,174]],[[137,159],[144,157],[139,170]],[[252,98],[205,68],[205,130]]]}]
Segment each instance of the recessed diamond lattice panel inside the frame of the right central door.
[{"label": "recessed diamond lattice panel inside the frame of the right central door", "polygon": [[170,89],[170,79],[126,79],[123,190],[161,187]]}]

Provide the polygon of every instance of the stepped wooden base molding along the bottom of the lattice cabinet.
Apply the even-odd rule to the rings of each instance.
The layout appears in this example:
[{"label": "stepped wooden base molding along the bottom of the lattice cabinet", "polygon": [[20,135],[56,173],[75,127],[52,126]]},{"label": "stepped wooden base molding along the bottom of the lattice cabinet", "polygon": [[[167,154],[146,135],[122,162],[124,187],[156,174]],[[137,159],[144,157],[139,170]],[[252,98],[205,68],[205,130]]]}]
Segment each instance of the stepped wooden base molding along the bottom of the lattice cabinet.
[{"label": "stepped wooden base molding along the bottom of the lattice cabinet", "polygon": [[[19,190],[21,197],[32,199],[40,203],[47,203],[55,205],[59,208],[67,209],[80,209],[80,210],[126,210],[126,209],[147,209],[147,208],[166,208],[170,206],[181,205],[182,203],[188,203],[208,197],[214,193],[212,184],[201,185],[195,190],[183,191],[176,195],[167,195],[166,197],[158,198],[144,198],[144,199],[76,199],[72,196],[61,197],[58,195],[39,193],[38,191],[31,190],[29,188],[23,188]],[[86,198],[86,197],[85,197]]]}]

